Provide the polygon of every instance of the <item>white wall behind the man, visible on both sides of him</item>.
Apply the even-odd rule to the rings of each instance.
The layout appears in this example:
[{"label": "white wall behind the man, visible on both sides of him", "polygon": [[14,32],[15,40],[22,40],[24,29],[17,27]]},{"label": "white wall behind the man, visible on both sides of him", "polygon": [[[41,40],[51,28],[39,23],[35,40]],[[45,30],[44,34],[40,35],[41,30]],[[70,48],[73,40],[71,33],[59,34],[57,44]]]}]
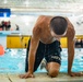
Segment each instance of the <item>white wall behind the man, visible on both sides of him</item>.
[{"label": "white wall behind the man, visible on both sides of him", "polygon": [[[68,16],[71,23],[74,25],[76,35],[83,35],[83,15],[79,16]],[[11,17],[0,17],[0,21],[11,21],[11,27],[16,28],[15,24],[20,26],[21,34],[31,35],[32,30],[36,23],[38,15],[12,15]],[[76,24],[79,22],[79,24]]]}]

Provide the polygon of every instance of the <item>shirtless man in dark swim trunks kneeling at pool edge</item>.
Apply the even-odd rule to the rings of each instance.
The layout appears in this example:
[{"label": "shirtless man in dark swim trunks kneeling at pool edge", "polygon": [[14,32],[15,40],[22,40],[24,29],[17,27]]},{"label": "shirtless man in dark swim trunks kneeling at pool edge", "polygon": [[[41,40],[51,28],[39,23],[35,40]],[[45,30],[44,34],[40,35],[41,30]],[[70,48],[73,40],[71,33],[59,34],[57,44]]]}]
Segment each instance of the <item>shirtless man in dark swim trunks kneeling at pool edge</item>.
[{"label": "shirtless man in dark swim trunks kneeling at pool edge", "polygon": [[72,72],[74,58],[74,35],[75,31],[68,17],[40,15],[33,28],[33,35],[28,44],[26,56],[25,74],[20,78],[34,78],[40,61],[45,57],[49,77],[57,77],[61,65],[60,38],[68,38],[68,74],[80,77],[81,73]]}]

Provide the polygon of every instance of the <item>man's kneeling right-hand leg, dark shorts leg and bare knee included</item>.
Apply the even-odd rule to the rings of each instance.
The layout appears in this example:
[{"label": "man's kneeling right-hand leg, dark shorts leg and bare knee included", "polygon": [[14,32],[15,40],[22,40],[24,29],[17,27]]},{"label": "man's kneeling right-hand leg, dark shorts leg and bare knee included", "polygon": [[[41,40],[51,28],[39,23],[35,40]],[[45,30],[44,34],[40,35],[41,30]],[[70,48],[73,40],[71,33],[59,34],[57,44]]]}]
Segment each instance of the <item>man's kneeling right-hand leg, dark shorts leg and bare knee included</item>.
[{"label": "man's kneeling right-hand leg, dark shorts leg and bare knee included", "polygon": [[48,75],[57,77],[59,73],[60,65],[61,65],[61,48],[60,43],[55,40],[52,44],[47,45],[47,55],[45,59],[47,60],[46,69],[48,71]]}]

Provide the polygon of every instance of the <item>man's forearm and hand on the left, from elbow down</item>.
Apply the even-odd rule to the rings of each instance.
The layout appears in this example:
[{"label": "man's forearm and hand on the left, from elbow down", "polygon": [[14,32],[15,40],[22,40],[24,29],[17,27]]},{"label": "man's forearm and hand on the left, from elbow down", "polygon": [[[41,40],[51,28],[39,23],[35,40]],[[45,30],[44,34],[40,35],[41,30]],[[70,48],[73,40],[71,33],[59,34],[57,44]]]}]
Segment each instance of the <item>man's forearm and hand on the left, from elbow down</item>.
[{"label": "man's forearm and hand on the left, from elbow down", "polygon": [[38,38],[35,38],[34,36],[31,38],[31,46],[28,51],[28,71],[25,74],[20,75],[20,78],[22,79],[34,78],[33,72],[38,43],[39,43]]}]

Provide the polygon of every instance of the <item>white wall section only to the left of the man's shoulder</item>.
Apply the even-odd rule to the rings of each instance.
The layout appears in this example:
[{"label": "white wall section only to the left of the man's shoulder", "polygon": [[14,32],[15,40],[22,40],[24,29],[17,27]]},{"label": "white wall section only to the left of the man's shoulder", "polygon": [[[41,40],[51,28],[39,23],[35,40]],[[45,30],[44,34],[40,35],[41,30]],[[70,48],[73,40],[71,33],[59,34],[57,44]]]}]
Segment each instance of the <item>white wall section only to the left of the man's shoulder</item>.
[{"label": "white wall section only to the left of the man's shoulder", "polygon": [[37,17],[34,15],[14,15],[11,17],[0,17],[0,22],[10,20],[11,28],[15,30],[15,24],[17,24],[22,34],[31,35]]}]

